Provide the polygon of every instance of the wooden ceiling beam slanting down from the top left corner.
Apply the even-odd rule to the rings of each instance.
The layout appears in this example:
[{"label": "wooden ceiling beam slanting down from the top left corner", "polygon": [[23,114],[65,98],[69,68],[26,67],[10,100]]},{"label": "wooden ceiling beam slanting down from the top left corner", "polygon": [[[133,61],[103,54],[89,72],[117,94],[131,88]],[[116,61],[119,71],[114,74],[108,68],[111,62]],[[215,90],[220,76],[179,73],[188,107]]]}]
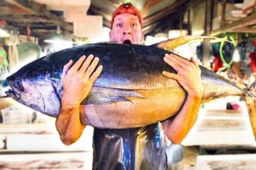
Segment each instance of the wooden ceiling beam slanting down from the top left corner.
[{"label": "wooden ceiling beam slanting down from the top left corner", "polygon": [[32,14],[41,13],[44,14],[49,20],[55,20],[55,23],[57,26],[61,26],[63,30],[67,31],[73,31],[73,25],[65,22],[61,17],[56,16],[55,14],[50,13],[45,5],[41,5],[38,3],[35,3],[31,0],[24,0],[18,1],[18,0],[6,0],[7,3],[10,3],[12,5],[15,5],[16,7],[23,8],[24,10],[27,10],[28,12],[31,12]]}]

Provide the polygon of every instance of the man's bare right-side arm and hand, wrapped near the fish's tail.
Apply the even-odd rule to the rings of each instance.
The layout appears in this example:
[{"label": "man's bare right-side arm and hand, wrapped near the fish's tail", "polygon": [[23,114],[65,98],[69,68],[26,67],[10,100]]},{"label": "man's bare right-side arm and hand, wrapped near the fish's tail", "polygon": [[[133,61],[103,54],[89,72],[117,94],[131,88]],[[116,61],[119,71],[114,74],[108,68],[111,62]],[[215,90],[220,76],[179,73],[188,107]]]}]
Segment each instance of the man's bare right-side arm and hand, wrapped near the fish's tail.
[{"label": "man's bare right-side arm and hand, wrapped near the fish's tail", "polygon": [[201,70],[193,58],[189,62],[178,58],[176,55],[166,54],[164,60],[177,71],[177,74],[163,71],[163,75],[177,80],[188,93],[183,108],[177,113],[177,116],[162,122],[167,138],[173,143],[179,144],[189,133],[197,119],[201,97],[204,93]]}]

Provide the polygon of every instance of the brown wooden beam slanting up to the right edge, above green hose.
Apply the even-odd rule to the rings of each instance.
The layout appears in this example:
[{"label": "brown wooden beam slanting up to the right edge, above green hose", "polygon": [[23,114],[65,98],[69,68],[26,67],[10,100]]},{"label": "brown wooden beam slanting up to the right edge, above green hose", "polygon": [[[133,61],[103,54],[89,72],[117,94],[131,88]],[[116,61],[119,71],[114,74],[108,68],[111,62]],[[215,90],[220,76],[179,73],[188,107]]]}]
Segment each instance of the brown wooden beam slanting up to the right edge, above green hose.
[{"label": "brown wooden beam slanting up to the right edge, above green hose", "polygon": [[237,20],[235,22],[232,22],[231,24],[222,26],[216,30],[211,31],[211,36],[216,36],[220,33],[232,31],[237,28],[251,26],[256,24],[256,12],[253,14],[248,15],[246,18],[243,18],[241,20]]}]

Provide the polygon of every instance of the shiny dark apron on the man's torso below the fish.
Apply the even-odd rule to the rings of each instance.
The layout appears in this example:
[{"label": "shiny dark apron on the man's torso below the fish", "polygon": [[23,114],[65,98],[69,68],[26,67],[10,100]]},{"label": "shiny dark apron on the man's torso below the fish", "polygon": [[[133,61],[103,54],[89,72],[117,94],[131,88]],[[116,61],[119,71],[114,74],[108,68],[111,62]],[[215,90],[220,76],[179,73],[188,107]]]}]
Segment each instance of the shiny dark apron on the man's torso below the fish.
[{"label": "shiny dark apron on the man's torso below the fish", "polygon": [[127,129],[95,128],[92,169],[167,169],[163,143],[158,123]]}]

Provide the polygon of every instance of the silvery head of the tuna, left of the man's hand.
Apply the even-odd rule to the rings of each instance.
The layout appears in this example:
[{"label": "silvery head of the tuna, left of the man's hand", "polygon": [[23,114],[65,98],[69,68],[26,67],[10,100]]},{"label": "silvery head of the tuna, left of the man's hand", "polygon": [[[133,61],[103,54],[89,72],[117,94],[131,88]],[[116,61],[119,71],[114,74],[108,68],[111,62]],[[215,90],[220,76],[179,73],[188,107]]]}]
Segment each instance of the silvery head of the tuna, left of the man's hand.
[{"label": "silvery head of the tuna, left of the man's hand", "polygon": [[57,116],[61,101],[48,69],[44,66],[20,69],[7,78],[10,89],[5,93],[33,110]]}]

